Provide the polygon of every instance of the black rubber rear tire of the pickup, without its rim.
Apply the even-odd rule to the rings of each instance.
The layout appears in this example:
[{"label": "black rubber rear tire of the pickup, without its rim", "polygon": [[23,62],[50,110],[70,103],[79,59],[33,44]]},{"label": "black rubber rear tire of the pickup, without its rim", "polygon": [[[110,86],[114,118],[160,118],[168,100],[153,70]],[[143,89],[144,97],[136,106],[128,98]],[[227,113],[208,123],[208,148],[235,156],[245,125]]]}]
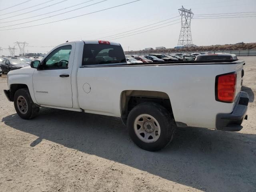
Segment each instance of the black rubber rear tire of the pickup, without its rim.
[{"label": "black rubber rear tire of the pickup, without its rim", "polygon": [[[158,140],[155,142],[144,142],[140,140],[135,133],[134,121],[141,114],[149,114],[158,121],[161,132]],[[158,151],[166,147],[172,141],[176,123],[166,108],[157,103],[145,102],[135,106],[130,111],[127,118],[127,127],[129,129],[130,137],[138,147],[148,151]]]}]

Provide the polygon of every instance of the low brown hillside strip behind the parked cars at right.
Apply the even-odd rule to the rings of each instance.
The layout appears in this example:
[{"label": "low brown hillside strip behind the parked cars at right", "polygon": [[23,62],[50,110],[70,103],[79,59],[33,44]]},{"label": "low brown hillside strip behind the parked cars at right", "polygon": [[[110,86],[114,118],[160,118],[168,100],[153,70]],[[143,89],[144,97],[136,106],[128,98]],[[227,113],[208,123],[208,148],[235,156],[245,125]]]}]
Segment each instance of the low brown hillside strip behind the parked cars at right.
[{"label": "low brown hillside strip behind the parked cars at right", "polygon": [[231,45],[215,45],[215,46],[198,46],[182,49],[158,49],[158,50],[139,50],[139,51],[126,51],[125,54],[137,53],[163,53],[163,52],[207,52],[207,51],[228,51],[228,50],[256,50],[256,43],[245,44],[231,44]]}]

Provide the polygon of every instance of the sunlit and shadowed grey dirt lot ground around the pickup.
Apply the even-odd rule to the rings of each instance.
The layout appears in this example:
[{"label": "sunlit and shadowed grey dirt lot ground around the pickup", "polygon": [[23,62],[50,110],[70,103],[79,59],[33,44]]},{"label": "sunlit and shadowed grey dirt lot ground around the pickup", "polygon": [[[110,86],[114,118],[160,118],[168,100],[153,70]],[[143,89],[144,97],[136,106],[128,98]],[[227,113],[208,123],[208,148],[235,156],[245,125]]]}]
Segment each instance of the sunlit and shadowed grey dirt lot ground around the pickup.
[{"label": "sunlit and shadowed grey dirt lot ground around the pickup", "polygon": [[256,57],[242,59],[250,95],[244,128],[180,128],[160,152],[138,148],[119,118],[41,108],[23,120],[4,96],[3,75],[0,192],[255,192]]}]

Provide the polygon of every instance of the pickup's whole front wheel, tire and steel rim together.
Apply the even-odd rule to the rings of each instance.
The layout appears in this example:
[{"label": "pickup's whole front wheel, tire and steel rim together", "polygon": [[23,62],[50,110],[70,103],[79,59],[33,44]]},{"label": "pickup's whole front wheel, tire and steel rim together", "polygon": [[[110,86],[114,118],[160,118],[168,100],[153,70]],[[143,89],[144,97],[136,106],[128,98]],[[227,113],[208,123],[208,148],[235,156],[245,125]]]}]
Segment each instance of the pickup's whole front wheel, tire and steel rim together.
[{"label": "pickup's whole front wheel, tire and steel rim together", "polygon": [[19,89],[14,94],[14,108],[22,119],[32,119],[38,112],[39,107],[34,104],[27,88]]}]

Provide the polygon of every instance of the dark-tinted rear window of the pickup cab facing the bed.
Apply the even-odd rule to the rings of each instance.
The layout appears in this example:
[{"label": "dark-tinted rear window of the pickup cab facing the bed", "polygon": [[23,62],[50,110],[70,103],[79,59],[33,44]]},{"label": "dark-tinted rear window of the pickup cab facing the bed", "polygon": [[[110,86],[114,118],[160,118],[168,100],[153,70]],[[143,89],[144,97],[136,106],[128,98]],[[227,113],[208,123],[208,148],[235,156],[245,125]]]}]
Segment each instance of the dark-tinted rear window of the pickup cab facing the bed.
[{"label": "dark-tinted rear window of the pickup cab facing the bed", "polygon": [[84,44],[82,65],[125,63],[121,46],[109,44]]}]

